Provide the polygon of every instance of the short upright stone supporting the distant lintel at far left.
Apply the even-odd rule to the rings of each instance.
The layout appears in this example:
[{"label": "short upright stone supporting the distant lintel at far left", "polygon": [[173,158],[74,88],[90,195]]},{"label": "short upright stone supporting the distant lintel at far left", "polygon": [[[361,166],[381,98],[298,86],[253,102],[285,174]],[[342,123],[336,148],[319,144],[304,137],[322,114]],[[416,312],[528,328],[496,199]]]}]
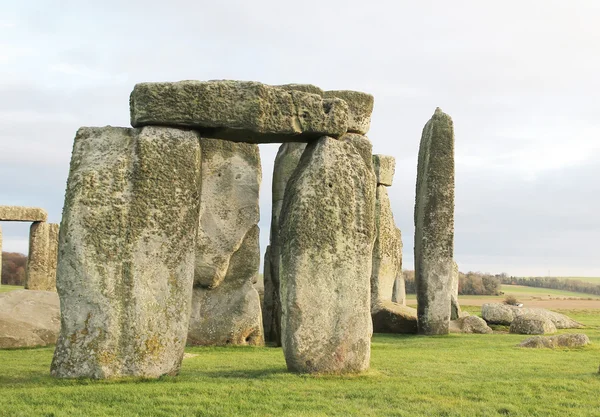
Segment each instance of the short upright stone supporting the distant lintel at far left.
[{"label": "short upright stone supporting the distant lintel at far left", "polygon": [[29,257],[25,288],[56,291],[58,224],[34,222],[29,229]]}]

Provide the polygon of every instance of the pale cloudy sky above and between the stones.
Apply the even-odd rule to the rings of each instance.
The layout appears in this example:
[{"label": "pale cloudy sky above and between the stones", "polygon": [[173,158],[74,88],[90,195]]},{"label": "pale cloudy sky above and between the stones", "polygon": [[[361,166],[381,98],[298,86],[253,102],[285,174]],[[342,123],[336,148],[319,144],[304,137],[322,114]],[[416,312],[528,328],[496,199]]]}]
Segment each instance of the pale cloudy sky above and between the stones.
[{"label": "pale cloudy sky above and between the stones", "polygon": [[[0,204],[60,222],[80,126],[129,126],[137,82],[310,83],[375,96],[374,153],[412,269],[418,146],[454,120],[461,271],[600,276],[597,0],[0,0]],[[261,145],[261,251],[277,145]],[[2,222],[5,251],[29,224]]]}]

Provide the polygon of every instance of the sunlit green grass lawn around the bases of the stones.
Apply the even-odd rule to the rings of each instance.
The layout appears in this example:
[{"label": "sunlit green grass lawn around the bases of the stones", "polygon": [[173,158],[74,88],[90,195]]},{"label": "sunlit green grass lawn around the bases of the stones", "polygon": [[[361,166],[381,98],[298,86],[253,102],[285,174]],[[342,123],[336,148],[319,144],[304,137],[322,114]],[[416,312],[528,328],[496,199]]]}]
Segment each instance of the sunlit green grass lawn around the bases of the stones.
[{"label": "sunlit green grass lawn around the bases of the stones", "polygon": [[[476,313],[477,307],[469,307]],[[371,370],[286,372],[277,348],[189,348],[178,377],[55,380],[52,348],[0,351],[4,416],[600,415],[600,310],[569,312],[593,345],[526,350],[521,335],[376,335]]]}]

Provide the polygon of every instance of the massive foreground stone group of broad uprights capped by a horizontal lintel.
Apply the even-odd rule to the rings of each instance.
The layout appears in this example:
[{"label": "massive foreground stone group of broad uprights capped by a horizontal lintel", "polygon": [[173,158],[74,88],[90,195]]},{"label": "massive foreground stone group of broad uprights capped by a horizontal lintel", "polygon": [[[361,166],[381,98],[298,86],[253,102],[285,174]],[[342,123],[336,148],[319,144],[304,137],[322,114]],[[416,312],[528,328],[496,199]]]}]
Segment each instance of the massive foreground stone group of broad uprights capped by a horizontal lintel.
[{"label": "massive foreground stone group of broad uprights capped by a horizontal lintel", "polygon": [[[368,369],[372,109],[369,94],[302,84],[142,83],[133,128],[79,129],[52,375],[174,375],[186,342],[261,345],[265,333],[291,371]],[[256,144],[273,142],[263,327]]]}]

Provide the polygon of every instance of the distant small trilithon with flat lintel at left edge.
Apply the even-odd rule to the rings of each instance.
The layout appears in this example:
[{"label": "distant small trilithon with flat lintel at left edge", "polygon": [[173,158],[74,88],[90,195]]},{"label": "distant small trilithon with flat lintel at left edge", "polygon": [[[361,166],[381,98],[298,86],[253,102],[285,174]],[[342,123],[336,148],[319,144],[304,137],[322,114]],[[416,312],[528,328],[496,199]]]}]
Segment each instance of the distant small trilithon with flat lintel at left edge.
[{"label": "distant small trilithon with flat lintel at left edge", "polygon": [[[47,223],[48,213],[37,207],[0,206],[0,221],[31,222],[25,288],[56,291],[59,225]],[[0,254],[2,230],[0,229]],[[0,259],[0,271],[2,260]]]}]

